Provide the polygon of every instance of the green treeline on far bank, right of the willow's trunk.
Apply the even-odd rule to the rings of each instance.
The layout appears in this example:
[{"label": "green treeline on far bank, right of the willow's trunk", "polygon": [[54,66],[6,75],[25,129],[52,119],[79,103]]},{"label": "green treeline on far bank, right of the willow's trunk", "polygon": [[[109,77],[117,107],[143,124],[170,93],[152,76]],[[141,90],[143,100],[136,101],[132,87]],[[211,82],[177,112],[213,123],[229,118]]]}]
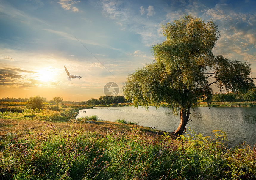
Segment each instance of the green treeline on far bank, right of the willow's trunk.
[{"label": "green treeline on far bank, right of the willow's trunk", "polygon": [[226,94],[213,94],[213,101],[255,101],[256,100],[256,88],[249,89],[246,93],[226,93]]}]

